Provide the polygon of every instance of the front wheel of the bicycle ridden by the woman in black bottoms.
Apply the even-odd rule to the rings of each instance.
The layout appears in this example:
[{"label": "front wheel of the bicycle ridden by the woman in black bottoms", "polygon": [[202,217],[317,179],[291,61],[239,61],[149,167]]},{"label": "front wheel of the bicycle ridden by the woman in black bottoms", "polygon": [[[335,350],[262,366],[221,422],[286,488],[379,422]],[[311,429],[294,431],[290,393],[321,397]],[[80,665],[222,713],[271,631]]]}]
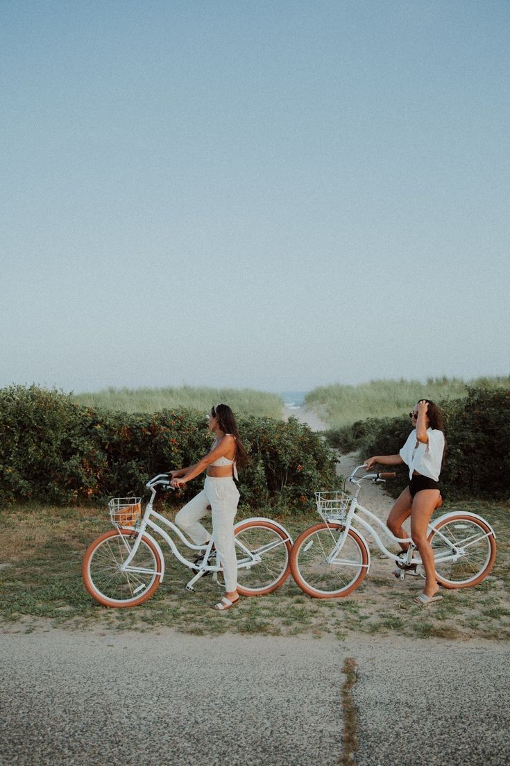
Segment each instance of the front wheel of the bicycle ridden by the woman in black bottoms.
[{"label": "front wheel of the bicycle ridden by the woman in black bottoms", "polygon": [[[344,529],[344,525],[339,523],[322,522],[305,529],[294,543],[290,571],[296,584],[307,595],[313,598],[344,598],[365,578],[370,560],[368,548],[354,529],[349,529],[339,552],[343,562],[338,561],[334,565],[327,561],[338,539],[334,532]],[[338,587],[339,584],[341,587]]]}]

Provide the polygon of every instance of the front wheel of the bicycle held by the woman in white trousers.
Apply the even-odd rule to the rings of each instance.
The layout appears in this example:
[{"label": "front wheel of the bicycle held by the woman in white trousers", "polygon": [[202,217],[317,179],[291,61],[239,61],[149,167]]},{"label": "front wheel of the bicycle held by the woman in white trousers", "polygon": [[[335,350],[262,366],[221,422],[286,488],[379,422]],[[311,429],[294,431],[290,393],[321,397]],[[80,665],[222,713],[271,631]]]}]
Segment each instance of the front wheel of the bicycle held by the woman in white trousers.
[{"label": "front wheel of the bicycle held by the woman in white trousers", "polygon": [[137,536],[134,529],[111,529],[90,543],[83,556],[83,584],[103,607],[137,607],[152,596],[161,582],[159,551],[145,535],[131,565],[146,572],[119,571],[128,555],[126,545]]}]

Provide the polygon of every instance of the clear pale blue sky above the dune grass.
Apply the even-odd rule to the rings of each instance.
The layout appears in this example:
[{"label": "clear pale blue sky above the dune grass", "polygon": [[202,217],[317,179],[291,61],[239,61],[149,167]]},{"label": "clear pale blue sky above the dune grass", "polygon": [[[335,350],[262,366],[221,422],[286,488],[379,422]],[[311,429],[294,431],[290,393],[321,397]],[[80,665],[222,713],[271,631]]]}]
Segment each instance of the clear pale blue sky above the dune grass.
[{"label": "clear pale blue sky above the dune grass", "polygon": [[510,3],[0,2],[0,385],[508,374]]}]

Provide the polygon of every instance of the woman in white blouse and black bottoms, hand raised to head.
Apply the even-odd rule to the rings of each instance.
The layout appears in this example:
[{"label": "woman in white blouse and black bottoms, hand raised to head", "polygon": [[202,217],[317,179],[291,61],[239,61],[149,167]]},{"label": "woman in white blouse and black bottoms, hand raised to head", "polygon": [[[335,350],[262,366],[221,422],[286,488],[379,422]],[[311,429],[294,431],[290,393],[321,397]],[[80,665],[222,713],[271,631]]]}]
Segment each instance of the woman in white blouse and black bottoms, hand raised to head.
[{"label": "woman in white blouse and black bottoms, hand raised to head", "polygon": [[[430,604],[439,601],[439,585],[436,581],[434,556],[427,539],[427,525],[440,499],[439,476],[443,463],[445,439],[443,434],[443,416],[436,404],[429,399],[421,399],[414,411],[410,412],[415,430],[398,455],[374,455],[365,461],[369,470],[375,463],[383,466],[409,466],[409,486],[400,494],[391,509],[387,525],[395,537],[405,538],[407,534],[402,524],[410,517],[411,538],[420,552],[425,569],[425,588],[414,601],[417,604]],[[404,543],[402,550],[407,549]],[[402,565],[405,568],[405,565]],[[409,565],[416,569],[416,565]]]}]

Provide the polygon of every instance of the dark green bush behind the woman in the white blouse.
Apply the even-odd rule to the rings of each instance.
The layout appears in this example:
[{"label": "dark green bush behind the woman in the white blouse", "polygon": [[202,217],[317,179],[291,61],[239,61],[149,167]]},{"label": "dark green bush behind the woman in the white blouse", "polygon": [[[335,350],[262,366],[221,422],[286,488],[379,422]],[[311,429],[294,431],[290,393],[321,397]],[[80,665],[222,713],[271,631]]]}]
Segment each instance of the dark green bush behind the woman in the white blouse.
[{"label": "dark green bush behind the woman in the white blouse", "polygon": [[[508,499],[510,389],[469,388],[466,398],[440,402],[440,408],[448,444],[441,473],[445,496]],[[410,433],[409,419],[369,422],[368,434],[358,440],[362,457],[398,453]],[[408,483],[405,466],[397,468],[397,476],[391,482],[394,495]]]}]

